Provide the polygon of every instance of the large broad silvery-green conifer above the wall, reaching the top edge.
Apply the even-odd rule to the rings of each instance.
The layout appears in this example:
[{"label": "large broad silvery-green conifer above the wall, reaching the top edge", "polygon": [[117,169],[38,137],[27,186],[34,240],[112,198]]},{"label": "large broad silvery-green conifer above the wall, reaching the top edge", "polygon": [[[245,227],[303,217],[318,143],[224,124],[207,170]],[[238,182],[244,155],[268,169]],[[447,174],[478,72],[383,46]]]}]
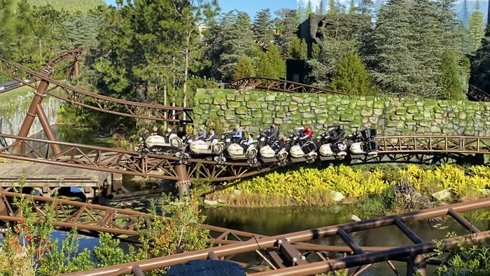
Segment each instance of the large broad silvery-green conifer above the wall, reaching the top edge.
[{"label": "large broad silvery-green conifer above the wall, reaching the top edge", "polygon": [[376,46],[373,79],[377,86],[402,97],[436,97],[437,64],[443,36],[435,3],[391,0],[381,9],[373,32]]}]

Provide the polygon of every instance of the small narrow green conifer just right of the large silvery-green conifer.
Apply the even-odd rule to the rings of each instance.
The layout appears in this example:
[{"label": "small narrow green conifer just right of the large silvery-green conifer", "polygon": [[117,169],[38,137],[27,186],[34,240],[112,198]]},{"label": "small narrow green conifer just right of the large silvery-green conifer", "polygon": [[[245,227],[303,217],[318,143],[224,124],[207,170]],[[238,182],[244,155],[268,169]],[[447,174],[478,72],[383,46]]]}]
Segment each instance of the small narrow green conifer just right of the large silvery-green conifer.
[{"label": "small narrow green conifer just right of the large silvery-green conifer", "polygon": [[458,73],[458,61],[456,54],[449,50],[442,53],[440,63],[439,86],[441,88],[440,99],[463,99],[463,88]]}]

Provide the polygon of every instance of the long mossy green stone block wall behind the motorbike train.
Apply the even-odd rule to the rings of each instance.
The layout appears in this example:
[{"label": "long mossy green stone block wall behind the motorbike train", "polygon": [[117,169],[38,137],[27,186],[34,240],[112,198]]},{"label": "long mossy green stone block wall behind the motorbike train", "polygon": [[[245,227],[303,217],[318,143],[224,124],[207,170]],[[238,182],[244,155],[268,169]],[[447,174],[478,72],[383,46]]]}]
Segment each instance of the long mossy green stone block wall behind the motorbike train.
[{"label": "long mossy green stone block wall behind the motorbike train", "polygon": [[279,125],[281,134],[295,127],[321,128],[342,123],[347,134],[371,127],[379,135],[445,134],[490,136],[490,103],[392,97],[347,97],[306,93],[199,90],[195,125],[211,121],[235,124],[257,133]]}]

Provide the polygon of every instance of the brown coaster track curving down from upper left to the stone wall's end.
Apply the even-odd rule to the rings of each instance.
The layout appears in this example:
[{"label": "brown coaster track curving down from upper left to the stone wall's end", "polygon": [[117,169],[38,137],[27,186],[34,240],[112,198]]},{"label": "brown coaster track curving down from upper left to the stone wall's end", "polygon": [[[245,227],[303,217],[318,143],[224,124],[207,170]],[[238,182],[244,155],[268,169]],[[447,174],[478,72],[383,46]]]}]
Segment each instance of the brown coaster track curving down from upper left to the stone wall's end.
[{"label": "brown coaster track curving down from upper left to the stone wall's end", "polygon": [[[63,57],[69,57],[69,55],[66,54],[66,56],[59,57],[59,60],[62,60]],[[47,68],[46,70],[48,71],[48,69],[51,67],[47,65],[45,68]],[[27,78],[34,81],[31,83],[25,82],[24,80],[26,78],[21,78],[19,76],[19,73],[27,74],[29,76]],[[127,116],[132,118],[165,120],[178,123],[192,123],[193,109],[174,106],[162,106],[159,104],[130,102],[123,99],[116,99],[113,97],[98,95],[92,92],[81,90],[80,88],[75,88],[60,81],[55,81],[54,79],[46,76],[45,73],[37,73],[36,71],[24,67],[18,63],[5,60],[1,57],[0,74],[5,74],[6,76],[9,76],[16,81],[20,81],[21,83],[24,83],[25,85],[28,85],[29,87],[36,90],[38,90],[39,88],[37,82],[45,81],[45,83],[49,83],[52,85],[52,88],[47,90],[48,95],[70,102],[71,104],[83,106],[87,109],[93,109],[106,113],[112,113],[114,115]],[[51,92],[56,88],[62,88],[62,90],[66,94],[66,97]]]}]

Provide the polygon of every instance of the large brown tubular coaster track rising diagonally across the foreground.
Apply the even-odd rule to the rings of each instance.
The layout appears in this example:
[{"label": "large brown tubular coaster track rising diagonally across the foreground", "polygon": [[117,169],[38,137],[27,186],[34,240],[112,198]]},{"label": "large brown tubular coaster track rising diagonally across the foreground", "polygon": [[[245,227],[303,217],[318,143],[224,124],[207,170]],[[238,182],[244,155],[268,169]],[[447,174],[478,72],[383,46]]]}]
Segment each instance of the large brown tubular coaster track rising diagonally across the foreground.
[{"label": "large brown tubular coaster track rising diagonally across the foreground", "polygon": [[[384,261],[390,262],[391,260],[407,261],[408,265],[406,275],[413,275],[415,268],[419,269],[421,275],[426,275],[426,264],[431,262],[427,261],[423,254],[434,252],[435,249],[437,249],[436,244],[433,241],[427,242],[422,240],[421,237],[417,236],[407,226],[407,223],[411,221],[421,221],[423,219],[435,218],[438,216],[451,216],[451,218],[456,220],[461,224],[461,226],[472,233],[472,235],[463,236],[463,240],[465,240],[465,242],[468,244],[471,244],[472,242],[483,242],[490,236],[490,230],[482,232],[481,230],[475,228],[475,226],[472,226],[472,223],[464,219],[459,213],[488,207],[490,207],[490,199],[486,198],[483,200],[458,203],[455,205],[446,205],[417,212],[384,216],[377,219],[368,219],[365,221],[339,224],[337,226],[327,226],[296,233],[276,235],[274,237],[256,236],[248,241],[240,242],[240,240],[238,240],[237,242],[232,242],[231,244],[211,247],[200,251],[114,265],[107,268],[97,268],[94,270],[76,272],[67,275],[118,276],[132,272],[136,265],[138,265],[141,271],[148,271],[169,267],[178,263],[186,263],[187,261],[196,259],[211,258],[232,260],[232,258],[234,258],[237,254],[244,254],[253,251],[257,252],[261,258],[264,258],[266,263],[269,264],[269,267],[272,268],[272,270],[269,271],[258,272],[257,275],[314,275],[316,273],[356,267],[358,267],[357,272],[359,272],[359,270],[365,269],[366,265],[369,266],[373,263]],[[362,247],[359,247],[356,242],[353,242],[349,235],[350,233],[356,233],[362,230],[386,226],[395,226],[398,228],[409,238],[409,240],[414,243],[414,245],[395,248],[379,248],[379,250],[367,252]],[[224,234],[226,234],[226,232]],[[313,244],[311,244],[313,247],[308,249],[301,249],[301,246],[298,246],[299,242],[309,242],[311,240],[332,236],[337,236],[344,240],[346,246],[349,247],[350,251],[345,251],[343,258],[328,259],[327,254],[325,254],[325,251],[328,251],[326,250],[327,248],[313,248]],[[455,237],[443,239],[440,240],[440,242],[442,242],[444,249],[453,249],[457,246],[457,240],[458,237]],[[224,244],[225,241],[221,240],[221,243]],[[309,256],[312,254],[321,256],[323,261],[314,261],[314,259],[309,258]],[[398,272],[394,266],[392,268],[397,275],[400,275],[400,272]]]}]

